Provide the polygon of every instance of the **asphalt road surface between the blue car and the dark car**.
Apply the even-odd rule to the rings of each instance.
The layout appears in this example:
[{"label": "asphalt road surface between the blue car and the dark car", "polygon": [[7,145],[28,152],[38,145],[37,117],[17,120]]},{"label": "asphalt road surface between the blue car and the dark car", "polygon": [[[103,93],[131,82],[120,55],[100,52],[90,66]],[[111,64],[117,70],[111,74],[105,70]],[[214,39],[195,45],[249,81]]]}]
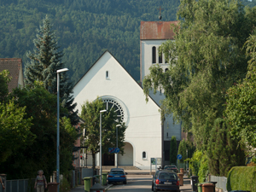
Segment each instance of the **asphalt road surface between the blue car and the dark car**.
[{"label": "asphalt road surface between the blue car and the dark car", "polygon": [[127,176],[127,184],[114,184],[108,189],[110,192],[152,192],[152,176],[149,175],[132,175]]}]

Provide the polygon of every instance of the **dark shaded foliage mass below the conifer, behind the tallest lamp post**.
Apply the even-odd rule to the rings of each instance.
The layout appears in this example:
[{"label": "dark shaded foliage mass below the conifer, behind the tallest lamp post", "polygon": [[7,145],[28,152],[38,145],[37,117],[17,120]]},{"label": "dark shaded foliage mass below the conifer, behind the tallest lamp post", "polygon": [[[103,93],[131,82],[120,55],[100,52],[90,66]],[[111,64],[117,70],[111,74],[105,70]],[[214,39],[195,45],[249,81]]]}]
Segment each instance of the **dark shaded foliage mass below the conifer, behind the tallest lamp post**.
[{"label": "dark shaded foliage mass below the conifer, behind the tallest lamp post", "polygon": [[[40,169],[44,170],[46,176],[51,175],[55,171],[57,130],[56,96],[45,90],[42,83],[36,82],[32,87],[22,90],[15,89],[10,95],[10,98],[15,98],[14,102],[16,106],[24,108],[24,119],[32,119],[30,131],[35,138],[25,148],[20,148],[19,153],[12,154],[3,163],[2,171],[8,174],[9,179],[32,178],[35,177],[35,174]],[[61,108],[61,112],[65,111],[67,111],[66,108]],[[60,120],[61,174],[73,169],[72,150],[77,138],[78,133],[75,128],[68,122],[67,118],[62,118]]]}]

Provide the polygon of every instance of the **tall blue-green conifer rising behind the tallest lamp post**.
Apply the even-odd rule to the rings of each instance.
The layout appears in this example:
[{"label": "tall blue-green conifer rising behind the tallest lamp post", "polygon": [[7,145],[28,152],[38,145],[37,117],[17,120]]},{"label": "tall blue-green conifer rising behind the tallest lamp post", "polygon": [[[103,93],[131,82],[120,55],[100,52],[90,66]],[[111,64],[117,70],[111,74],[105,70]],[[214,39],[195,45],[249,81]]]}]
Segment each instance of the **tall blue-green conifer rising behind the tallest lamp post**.
[{"label": "tall blue-green conifer rising behind the tallest lamp post", "polygon": [[[60,47],[57,45],[55,32],[51,28],[52,25],[46,15],[43,20],[43,26],[38,29],[37,38],[33,41],[35,49],[33,49],[33,52],[29,51],[26,55],[30,62],[26,64],[25,68],[25,83],[32,86],[34,81],[42,81],[46,90],[57,94],[56,71],[63,68],[64,64],[61,62],[63,53],[59,50]],[[75,125],[78,122],[78,111],[73,112],[77,104],[73,103],[72,93],[73,86],[67,79],[67,74],[60,73],[61,105],[67,108],[69,113],[65,115]]]}]

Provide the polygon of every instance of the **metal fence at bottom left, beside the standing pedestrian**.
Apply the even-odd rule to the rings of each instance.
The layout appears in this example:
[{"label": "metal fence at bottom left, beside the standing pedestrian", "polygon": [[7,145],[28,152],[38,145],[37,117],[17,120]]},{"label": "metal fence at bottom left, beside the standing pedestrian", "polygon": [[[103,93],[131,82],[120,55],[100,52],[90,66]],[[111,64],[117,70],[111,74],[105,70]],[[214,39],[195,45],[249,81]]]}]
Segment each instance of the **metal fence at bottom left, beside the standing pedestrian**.
[{"label": "metal fence at bottom left, beside the standing pedestrian", "polygon": [[34,192],[33,189],[35,179],[17,179],[17,180],[6,180],[4,182],[5,191],[0,187],[0,192]]}]

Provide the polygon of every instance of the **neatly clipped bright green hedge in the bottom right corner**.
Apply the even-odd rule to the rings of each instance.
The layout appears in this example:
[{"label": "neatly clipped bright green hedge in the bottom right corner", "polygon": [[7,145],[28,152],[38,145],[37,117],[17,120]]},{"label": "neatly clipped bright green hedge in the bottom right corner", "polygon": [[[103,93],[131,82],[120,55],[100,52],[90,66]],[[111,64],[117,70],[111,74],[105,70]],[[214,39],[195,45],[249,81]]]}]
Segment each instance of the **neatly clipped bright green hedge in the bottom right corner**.
[{"label": "neatly clipped bright green hedge in the bottom right corner", "polygon": [[227,190],[256,192],[256,166],[234,166],[228,173]]}]

